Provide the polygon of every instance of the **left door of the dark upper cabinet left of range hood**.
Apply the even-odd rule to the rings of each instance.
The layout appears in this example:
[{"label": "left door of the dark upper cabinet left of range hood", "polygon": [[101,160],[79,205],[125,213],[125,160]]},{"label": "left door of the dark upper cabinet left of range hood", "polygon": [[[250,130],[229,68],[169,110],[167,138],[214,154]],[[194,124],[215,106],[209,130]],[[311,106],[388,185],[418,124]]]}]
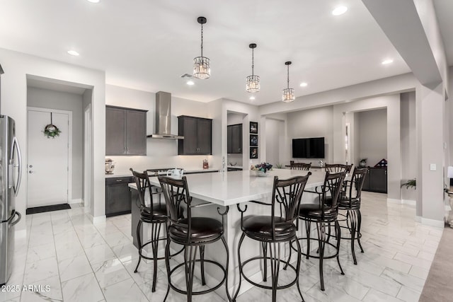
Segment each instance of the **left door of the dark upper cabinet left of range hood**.
[{"label": "left door of the dark upper cabinet left of range hood", "polygon": [[105,108],[105,155],[125,155],[125,110]]}]

